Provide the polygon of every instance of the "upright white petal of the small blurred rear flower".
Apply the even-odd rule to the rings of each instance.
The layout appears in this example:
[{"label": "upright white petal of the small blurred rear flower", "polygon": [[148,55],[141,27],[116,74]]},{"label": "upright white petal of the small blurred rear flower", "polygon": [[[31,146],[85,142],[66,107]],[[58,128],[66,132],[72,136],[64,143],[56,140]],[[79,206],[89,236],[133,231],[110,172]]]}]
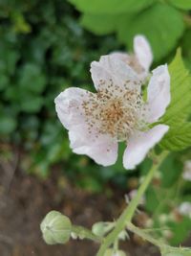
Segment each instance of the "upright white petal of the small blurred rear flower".
[{"label": "upright white petal of the small blurred rear flower", "polygon": [[143,35],[134,38],[134,51],[140,65],[148,72],[153,61],[153,54],[149,42]]}]

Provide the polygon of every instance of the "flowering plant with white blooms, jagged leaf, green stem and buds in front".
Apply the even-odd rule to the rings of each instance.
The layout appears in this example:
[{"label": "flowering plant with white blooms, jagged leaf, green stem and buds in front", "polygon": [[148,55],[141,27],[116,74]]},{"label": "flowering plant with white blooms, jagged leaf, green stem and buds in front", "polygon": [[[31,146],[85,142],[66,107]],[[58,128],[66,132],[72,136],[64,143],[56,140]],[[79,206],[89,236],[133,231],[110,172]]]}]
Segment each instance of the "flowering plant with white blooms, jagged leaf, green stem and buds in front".
[{"label": "flowering plant with white blooms, jagged leaf, green stem and buds in front", "polygon": [[[124,256],[119,241],[129,239],[129,233],[134,233],[158,246],[162,256],[191,255],[190,248],[169,245],[153,236],[154,229],[146,229],[155,227],[154,221],[170,223],[184,216],[191,218],[189,200],[182,203],[175,200],[171,209],[145,221],[145,228],[134,224],[140,201],[148,210],[151,207],[152,199],[144,196],[152,180],[165,181],[168,173],[165,161],[171,157],[170,152],[191,145],[191,77],[180,50],[172,63],[159,65],[150,72],[152,61],[146,37],[136,35],[133,54],[114,52],[91,63],[95,92],[70,87],[55,98],[58,118],[68,129],[74,153],[88,155],[96,164],[107,167],[117,162],[118,145],[123,143],[122,162],[126,170],[134,170],[148,154],[150,163],[138,190],[126,198],[127,206],[116,221],[97,222],[88,230],[53,211],[41,223],[47,244],[65,244],[70,238],[90,239],[100,244],[96,256]],[[190,170],[190,163],[186,162],[181,181],[190,182]],[[159,175],[163,175],[162,179]],[[166,198],[175,197],[175,190],[177,187]],[[170,230],[165,231],[170,237]]]}]

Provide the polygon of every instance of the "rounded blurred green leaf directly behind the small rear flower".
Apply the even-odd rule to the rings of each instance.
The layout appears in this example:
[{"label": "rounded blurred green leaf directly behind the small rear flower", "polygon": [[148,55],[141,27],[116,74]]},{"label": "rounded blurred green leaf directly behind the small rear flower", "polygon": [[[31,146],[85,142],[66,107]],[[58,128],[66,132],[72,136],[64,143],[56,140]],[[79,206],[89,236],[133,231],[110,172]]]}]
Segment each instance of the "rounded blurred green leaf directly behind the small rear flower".
[{"label": "rounded blurred green leaf directly behind the small rear flower", "polygon": [[180,12],[164,4],[152,6],[133,18],[126,16],[118,24],[119,39],[130,47],[135,35],[146,35],[155,60],[165,57],[177,45],[183,31],[184,23]]}]

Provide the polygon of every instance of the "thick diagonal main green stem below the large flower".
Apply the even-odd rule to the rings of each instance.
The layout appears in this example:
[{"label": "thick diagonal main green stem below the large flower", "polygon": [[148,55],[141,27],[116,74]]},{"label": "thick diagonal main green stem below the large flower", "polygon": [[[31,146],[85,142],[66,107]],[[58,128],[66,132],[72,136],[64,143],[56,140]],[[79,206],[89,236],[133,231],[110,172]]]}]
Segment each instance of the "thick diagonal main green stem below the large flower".
[{"label": "thick diagonal main green stem below the large flower", "polygon": [[103,239],[103,242],[96,254],[96,256],[103,256],[105,253],[105,250],[115,242],[117,239],[118,234],[126,227],[127,223],[129,223],[134,213],[138,207],[138,203],[140,201],[140,198],[144,194],[145,190],[147,189],[148,185],[150,184],[155,172],[159,169],[160,164],[163,162],[164,158],[166,157],[167,152],[164,151],[159,155],[159,158],[156,161],[153,161],[153,166],[146,175],[145,179],[143,180],[142,184],[140,185],[138,189],[138,193],[135,198],[131,200],[129,205],[125,208],[123,213],[120,215],[116,222],[116,227],[114,230],[108,234],[108,236]]}]

